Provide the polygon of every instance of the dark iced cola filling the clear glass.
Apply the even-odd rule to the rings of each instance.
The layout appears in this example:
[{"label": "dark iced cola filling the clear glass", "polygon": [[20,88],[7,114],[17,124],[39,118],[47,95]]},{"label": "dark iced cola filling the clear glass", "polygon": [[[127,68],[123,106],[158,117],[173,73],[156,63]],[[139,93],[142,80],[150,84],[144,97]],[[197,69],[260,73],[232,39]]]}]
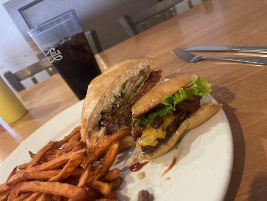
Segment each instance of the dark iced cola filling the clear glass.
[{"label": "dark iced cola filling the clear glass", "polygon": [[75,95],[84,99],[88,84],[101,74],[85,34],[64,38],[45,53]]}]

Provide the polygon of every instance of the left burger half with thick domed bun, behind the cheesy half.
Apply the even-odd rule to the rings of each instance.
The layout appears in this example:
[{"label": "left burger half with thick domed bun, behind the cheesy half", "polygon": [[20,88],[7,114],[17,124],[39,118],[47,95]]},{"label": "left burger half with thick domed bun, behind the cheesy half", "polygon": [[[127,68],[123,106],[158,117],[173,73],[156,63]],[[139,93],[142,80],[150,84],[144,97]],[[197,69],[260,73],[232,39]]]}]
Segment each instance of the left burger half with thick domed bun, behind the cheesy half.
[{"label": "left burger half with thick domed bun, behind the cheesy half", "polygon": [[[108,68],[91,81],[82,109],[81,136],[90,150],[103,136],[130,128],[131,107],[161,78],[161,71],[150,69],[151,58],[130,59]],[[133,145],[124,138],[120,149]]]}]

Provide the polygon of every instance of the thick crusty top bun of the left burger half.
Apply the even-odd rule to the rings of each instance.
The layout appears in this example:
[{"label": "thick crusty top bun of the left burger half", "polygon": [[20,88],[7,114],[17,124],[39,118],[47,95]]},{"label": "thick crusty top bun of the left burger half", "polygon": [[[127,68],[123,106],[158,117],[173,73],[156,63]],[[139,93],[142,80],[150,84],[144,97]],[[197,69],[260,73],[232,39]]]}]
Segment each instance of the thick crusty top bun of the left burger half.
[{"label": "thick crusty top bun of the left burger half", "polygon": [[[98,136],[92,136],[96,129],[101,111],[108,109],[121,92],[122,85],[131,77],[136,76],[151,63],[151,58],[129,59],[108,68],[91,81],[84,99],[81,120],[81,136],[87,145],[94,145]],[[103,132],[102,132],[103,133]]]}]

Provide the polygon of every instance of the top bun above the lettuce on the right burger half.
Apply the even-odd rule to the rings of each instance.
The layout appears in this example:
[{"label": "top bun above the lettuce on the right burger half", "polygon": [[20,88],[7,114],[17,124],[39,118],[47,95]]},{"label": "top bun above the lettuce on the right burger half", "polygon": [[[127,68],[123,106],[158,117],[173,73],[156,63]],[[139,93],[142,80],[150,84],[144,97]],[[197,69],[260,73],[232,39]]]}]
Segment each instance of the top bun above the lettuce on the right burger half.
[{"label": "top bun above the lettuce on the right burger half", "polygon": [[143,95],[132,107],[134,119],[138,119],[146,112],[160,104],[165,95],[173,94],[186,84],[193,81],[197,75],[180,75],[154,86]]}]

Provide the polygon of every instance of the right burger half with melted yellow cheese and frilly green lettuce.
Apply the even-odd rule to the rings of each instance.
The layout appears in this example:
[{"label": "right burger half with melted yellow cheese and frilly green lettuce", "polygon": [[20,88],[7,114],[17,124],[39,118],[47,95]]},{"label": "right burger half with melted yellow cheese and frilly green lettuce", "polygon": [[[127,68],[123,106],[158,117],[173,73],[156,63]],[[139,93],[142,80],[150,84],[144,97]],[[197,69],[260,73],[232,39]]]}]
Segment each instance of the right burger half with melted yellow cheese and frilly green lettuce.
[{"label": "right burger half with melted yellow cheese and frilly green lettuce", "polygon": [[132,107],[133,140],[141,157],[150,160],[168,152],[182,134],[216,112],[220,104],[204,103],[211,84],[197,75],[177,76],[153,87]]}]

